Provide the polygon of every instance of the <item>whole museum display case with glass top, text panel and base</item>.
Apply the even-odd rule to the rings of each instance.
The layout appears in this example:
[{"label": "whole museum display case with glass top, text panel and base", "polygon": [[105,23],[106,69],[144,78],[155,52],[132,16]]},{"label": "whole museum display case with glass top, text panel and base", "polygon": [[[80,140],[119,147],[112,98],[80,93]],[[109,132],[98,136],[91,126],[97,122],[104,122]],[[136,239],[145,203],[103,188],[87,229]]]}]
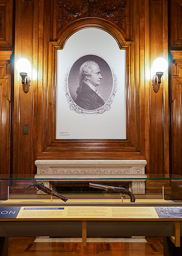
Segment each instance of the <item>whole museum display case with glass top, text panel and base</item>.
[{"label": "whole museum display case with glass top, text panel and base", "polygon": [[6,252],[10,236],[82,237],[83,246],[87,237],[163,236],[173,256],[182,243],[181,219],[181,177],[0,179]]}]

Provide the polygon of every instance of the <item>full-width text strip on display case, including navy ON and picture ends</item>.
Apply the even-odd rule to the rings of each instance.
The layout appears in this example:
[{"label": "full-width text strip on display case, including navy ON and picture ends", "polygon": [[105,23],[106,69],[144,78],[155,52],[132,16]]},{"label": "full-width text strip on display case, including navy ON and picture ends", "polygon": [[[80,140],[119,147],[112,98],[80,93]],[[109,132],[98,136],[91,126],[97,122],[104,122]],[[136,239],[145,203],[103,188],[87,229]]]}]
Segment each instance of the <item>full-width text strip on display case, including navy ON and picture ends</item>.
[{"label": "full-width text strip on display case, including navy ON and picture ends", "polygon": [[0,219],[182,219],[182,207],[0,207]]}]

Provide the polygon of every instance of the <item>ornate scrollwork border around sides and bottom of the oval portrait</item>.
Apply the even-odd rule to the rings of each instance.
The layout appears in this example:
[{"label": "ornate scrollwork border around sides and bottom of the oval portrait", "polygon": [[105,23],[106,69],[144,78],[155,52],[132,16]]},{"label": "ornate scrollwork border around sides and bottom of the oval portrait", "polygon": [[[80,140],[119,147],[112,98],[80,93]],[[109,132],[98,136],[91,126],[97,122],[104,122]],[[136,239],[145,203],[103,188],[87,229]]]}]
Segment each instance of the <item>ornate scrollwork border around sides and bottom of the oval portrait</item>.
[{"label": "ornate scrollwork border around sides and bottom of the oval portrait", "polygon": [[114,73],[114,70],[111,67],[110,67],[110,69],[111,69],[111,73],[112,73],[112,77],[113,77],[113,86],[112,86],[112,91],[111,91],[111,95],[110,95],[109,99],[100,108],[97,108],[95,110],[86,110],[86,109],[83,109],[83,108],[79,107],[78,105],[76,105],[75,101],[73,101],[73,99],[70,95],[70,92],[68,89],[68,76],[69,76],[71,68],[69,68],[69,70],[67,71],[67,73],[65,75],[64,89],[66,92],[65,95],[66,95],[66,99],[68,101],[70,110],[75,111],[77,114],[95,114],[95,115],[97,115],[97,114],[103,114],[104,112],[109,111],[111,109],[111,104],[113,102],[113,99],[114,99],[114,97],[116,95],[116,91],[117,91],[117,77],[116,77],[116,74]]}]

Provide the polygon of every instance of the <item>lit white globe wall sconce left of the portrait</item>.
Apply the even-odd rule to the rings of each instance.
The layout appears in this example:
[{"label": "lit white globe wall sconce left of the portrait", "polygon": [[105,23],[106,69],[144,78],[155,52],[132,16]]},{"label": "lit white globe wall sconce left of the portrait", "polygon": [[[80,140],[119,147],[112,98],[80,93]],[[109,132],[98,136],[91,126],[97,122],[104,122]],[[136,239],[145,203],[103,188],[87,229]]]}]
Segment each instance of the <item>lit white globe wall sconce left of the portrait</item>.
[{"label": "lit white globe wall sconce left of the portrait", "polygon": [[29,75],[31,74],[31,64],[30,61],[27,59],[19,59],[16,62],[16,69],[20,73],[21,76],[21,83],[23,86],[23,91],[27,93],[30,88],[30,77]]}]

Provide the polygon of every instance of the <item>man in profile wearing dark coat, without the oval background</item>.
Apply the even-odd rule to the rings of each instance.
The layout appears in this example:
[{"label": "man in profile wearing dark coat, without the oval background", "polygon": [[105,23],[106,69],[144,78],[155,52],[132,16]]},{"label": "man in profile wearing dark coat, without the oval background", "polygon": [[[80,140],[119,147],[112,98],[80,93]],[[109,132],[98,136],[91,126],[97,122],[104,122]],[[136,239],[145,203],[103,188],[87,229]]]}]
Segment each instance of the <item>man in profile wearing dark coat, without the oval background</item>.
[{"label": "man in profile wearing dark coat, without the oval background", "polygon": [[85,61],[80,67],[79,87],[76,90],[76,104],[86,110],[95,110],[102,107],[105,102],[97,90],[101,83],[101,70],[92,60]]}]

